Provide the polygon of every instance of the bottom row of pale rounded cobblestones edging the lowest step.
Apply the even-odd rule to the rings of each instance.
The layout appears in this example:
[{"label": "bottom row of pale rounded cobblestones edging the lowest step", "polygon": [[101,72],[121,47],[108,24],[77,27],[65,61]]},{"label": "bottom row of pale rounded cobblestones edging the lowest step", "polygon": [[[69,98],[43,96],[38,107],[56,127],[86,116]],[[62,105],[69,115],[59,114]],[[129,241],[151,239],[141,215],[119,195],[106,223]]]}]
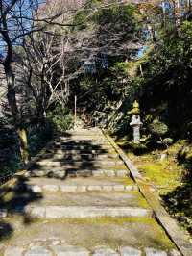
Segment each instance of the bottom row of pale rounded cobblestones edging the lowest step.
[{"label": "bottom row of pale rounded cobblestones edging the lowest step", "polygon": [[[51,242],[51,240],[50,240]],[[96,246],[92,251],[86,249],[85,247],[61,244],[60,241],[53,240],[52,243],[41,244],[40,242],[35,242],[36,245],[29,246],[27,251],[21,246],[8,246],[5,249],[4,256],[12,256],[12,251],[16,256],[22,256],[23,252],[26,251],[24,256],[180,256],[177,250],[170,250],[167,254],[166,250],[159,250],[156,248],[145,248],[145,254],[142,254],[142,250],[136,249],[131,246],[122,246],[117,250],[114,250],[107,245]],[[58,243],[58,244],[55,244]],[[175,252],[174,252],[175,251]],[[174,254],[173,254],[174,253]]]}]

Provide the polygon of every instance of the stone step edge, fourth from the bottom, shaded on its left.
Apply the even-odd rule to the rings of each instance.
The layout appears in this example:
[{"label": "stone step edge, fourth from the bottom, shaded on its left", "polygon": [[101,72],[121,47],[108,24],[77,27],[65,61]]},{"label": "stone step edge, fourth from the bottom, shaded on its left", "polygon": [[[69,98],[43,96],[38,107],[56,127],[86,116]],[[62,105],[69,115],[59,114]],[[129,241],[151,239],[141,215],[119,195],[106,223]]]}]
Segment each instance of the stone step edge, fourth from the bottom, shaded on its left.
[{"label": "stone step edge, fourth from the bottom, shaded on its left", "polygon": [[31,168],[26,173],[26,177],[54,177],[58,179],[64,179],[66,177],[127,177],[129,172],[127,169],[91,169],[91,168],[65,168],[65,167],[54,167],[50,168],[43,166],[40,169]]}]

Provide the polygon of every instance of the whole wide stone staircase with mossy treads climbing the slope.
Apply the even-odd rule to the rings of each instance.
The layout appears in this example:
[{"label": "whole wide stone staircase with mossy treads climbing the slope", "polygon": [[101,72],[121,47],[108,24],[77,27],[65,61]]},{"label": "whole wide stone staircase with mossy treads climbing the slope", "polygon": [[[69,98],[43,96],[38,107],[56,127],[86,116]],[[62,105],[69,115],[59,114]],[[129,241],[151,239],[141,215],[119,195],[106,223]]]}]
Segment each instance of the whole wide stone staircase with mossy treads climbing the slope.
[{"label": "whole wide stone staircase with mossy treads climbing the slope", "polygon": [[0,255],[180,255],[98,128],[53,141],[1,201]]}]

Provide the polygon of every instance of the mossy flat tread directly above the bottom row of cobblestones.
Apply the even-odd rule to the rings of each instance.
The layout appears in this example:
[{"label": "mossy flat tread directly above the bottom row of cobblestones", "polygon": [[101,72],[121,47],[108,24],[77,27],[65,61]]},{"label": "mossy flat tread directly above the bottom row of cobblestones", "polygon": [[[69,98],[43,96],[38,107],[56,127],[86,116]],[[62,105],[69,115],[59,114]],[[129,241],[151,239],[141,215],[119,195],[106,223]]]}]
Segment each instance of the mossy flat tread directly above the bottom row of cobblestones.
[{"label": "mossy flat tread directly above the bottom row of cobblestones", "polygon": [[[152,246],[159,249],[171,249],[174,244],[164,230],[153,218],[60,218],[36,219],[26,228],[22,218],[11,218],[10,223],[16,226],[11,240],[5,244],[26,245],[32,238],[60,239],[67,237],[69,244],[80,245],[92,249],[96,245],[108,244],[116,249],[122,245],[137,248]],[[19,227],[19,228],[18,228]],[[46,227],[46,228],[45,228]]]}]

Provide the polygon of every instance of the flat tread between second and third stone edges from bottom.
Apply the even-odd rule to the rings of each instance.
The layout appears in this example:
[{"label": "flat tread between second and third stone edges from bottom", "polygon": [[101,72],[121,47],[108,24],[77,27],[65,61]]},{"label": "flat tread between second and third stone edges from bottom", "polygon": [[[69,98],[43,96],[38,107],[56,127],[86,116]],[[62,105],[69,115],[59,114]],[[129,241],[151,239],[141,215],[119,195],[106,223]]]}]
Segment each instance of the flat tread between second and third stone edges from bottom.
[{"label": "flat tread between second and third stone edges from bottom", "polygon": [[[96,207],[101,208],[141,208],[149,210],[146,200],[138,191],[122,192],[120,186],[114,187],[116,192],[62,192],[63,187],[44,185],[44,191],[38,191],[39,188],[33,188],[31,185],[16,186],[15,193],[9,194],[9,201],[1,203],[1,209],[9,209],[12,214],[23,211],[26,206],[36,207]],[[58,191],[60,189],[60,191]],[[93,189],[93,188],[90,188]],[[35,192],[36,190],[36,192]],[[95,190],[95,188],[94,188]],[[8,198],[8,196],[6,197]],[[139,214],[138,214],[139,215]],[[81,217],[80,217],[81,218]]]}]

